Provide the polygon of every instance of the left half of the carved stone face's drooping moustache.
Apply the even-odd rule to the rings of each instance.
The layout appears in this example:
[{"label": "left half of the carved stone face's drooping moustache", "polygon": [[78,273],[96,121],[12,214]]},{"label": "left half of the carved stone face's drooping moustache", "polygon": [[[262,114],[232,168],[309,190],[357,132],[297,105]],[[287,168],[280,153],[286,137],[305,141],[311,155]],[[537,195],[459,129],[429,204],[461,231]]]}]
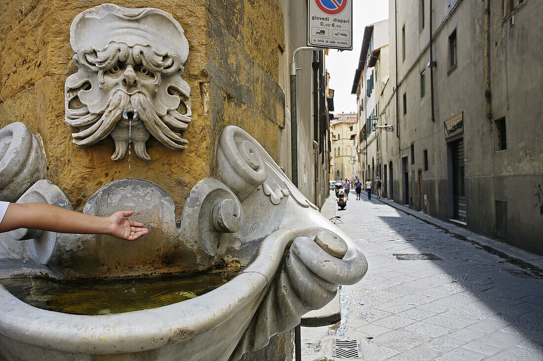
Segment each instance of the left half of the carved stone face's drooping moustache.
[{"label": "left half of the carved stone face's drooping moustache", "polygon": [[[123,109],[127,106],[129,100],[129,95],[123,91],[116,91],[113,93],[108,103],[108,107],[96,123],[89,126],[89,128],[72,134],[75,145],[78,145],[79,147],[88,147],[107,137],[121,119]],[[77,124],[75,121],[73,123]],[[83,125],[81,125],[81,128],[82,127]]]}]

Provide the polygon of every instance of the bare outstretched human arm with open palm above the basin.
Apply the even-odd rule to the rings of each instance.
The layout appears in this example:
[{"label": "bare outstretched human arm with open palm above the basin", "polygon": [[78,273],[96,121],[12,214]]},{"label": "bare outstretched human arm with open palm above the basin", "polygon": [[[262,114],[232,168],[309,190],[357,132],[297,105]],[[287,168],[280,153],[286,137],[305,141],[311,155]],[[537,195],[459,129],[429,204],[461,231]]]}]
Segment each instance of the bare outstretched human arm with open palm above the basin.
[{"label": "bare outstretched human arm with open palm above the basin", "polygon": [[125,219],[133,211],[118,211],[109,217],[97,217],[42,203],[10,203],[0,223],[0,232],[18,228],[61,233],[103,234],[134,240],[149,230],[143,224]]}]

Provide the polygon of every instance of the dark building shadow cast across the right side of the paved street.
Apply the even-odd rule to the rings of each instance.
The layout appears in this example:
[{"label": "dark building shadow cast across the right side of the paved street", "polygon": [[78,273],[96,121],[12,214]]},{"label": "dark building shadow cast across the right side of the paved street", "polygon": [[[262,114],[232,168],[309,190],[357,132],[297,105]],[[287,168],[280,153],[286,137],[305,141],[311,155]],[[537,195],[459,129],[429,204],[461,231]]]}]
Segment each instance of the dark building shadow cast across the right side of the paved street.
[{"label": "dark building shadow cast across the right side of the paved street", "polygon": [[[382,204],[373,198],[370,202]],[[456,308],[442,315],[468,322],[487,317],[508,322],[518,332],[535,341],[539,346],[538,351],[543,353],[543,277],[540,273],[510,264],[506,259],[414,217],[403,214],[402,217],[377,217],[403,238],[403,242],[418,250],[418,254],[433,254],[440,258],[430,262],[437,265],[442,274],[428,274],[428,278],[406,282],[403,286],[422,290],[425,288],[422,285],[430,281],[436,282],[435,288],[441,287],[446,292],[447,284],[456,283],[493,311],[494,315],[477,312],[475,307],[470,307],[470,303],[463,306],[462,302],[468,302],[469,297],[457,297],[457,305],[451,305]],[[400,262],[406,265],[409,262],[413,265],[417,263]],[[436,281],[439,278],[443,278],[441,285]],[[508,331],[512,332],[510,329]]]}]

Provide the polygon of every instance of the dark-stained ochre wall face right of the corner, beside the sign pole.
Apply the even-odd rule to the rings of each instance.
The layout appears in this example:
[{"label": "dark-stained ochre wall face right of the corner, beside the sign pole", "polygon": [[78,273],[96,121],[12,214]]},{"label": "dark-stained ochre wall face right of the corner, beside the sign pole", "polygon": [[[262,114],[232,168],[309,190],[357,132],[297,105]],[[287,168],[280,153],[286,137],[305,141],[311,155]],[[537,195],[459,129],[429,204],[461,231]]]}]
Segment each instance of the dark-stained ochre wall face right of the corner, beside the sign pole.
[{"label": "dark-stained ochre wall face right of the corner, beside the sign pole", "polygon": [[207,0],[206,6],[212,138],[237,125],[277,161],[277,128],[285,123],[278,84],[285,51],[282,11],[265,0]]}]

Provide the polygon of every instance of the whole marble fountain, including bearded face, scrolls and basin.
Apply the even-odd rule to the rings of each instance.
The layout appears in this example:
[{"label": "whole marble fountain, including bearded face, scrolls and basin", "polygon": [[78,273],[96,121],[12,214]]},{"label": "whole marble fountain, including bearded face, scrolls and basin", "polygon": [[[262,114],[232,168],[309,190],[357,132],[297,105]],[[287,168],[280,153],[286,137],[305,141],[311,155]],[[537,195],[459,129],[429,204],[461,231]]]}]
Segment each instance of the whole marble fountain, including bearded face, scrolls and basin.
[{"label": "whole marble fountain, including bearded face, scrolls and basin", "polygon": [[[190,87],[181,78],[188,43],[170,14],[100,5],[74,18],[70,43],[78,70],[65,84],[65,123],[78,147],[111,136],[112,162],[127,151],[152,161],[150,136],[170,149],[187,147],[180,131],[192,122]],[[185,113],[176,110],[181,102]],[[0,199],[72,209],[62,189],[45,179],[41,148],[23,123],[0,130]],[[137,245],[109,236],[2,233],[0,278],[98,282],[237,264],[235,276],[181,302],[93,315],[37,308],[0,286],[1,357],[237,360],[326,305],[338,285],[364,276],[358,246],[247,132],[226,126],[214,157],[213,178],[191,189],[179,220],[172,197],[152,180],[117,179],[89,198],[84,213],[134,210],[132,218],[150,229]]]}]

